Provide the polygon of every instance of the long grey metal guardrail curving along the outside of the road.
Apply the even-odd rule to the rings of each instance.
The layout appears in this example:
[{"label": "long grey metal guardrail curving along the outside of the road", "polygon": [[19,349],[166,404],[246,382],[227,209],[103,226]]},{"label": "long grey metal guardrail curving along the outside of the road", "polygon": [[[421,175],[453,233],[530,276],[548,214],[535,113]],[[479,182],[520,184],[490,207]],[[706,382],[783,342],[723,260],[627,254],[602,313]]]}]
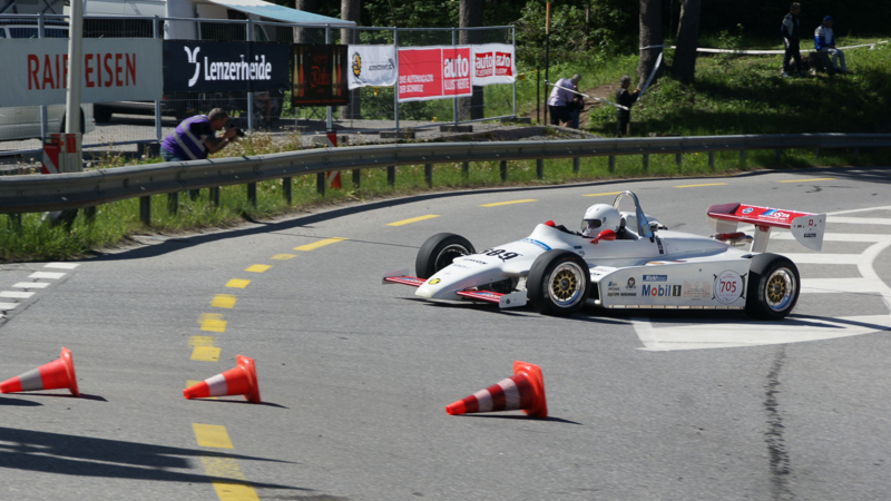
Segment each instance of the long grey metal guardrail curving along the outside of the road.
[{"label": "long grey metal guardrail curving along the outside of the road", "polygon": [[[254,184],[293,176],[444,163],[544,160],[596,156],[713,153],[791,148],[888,148],[891,134],[659,137],[503,143],[424,143],[317,148],[254,157],[0,177],[0,214],[92,207],[188,189]],[[709,156],[711,158],[711,156]],[[646,161],[646,160],[645,160]],[[541,166],[542,164],[539,164]],[[506,164],[502,164],[502,176]],[[539,176],[540,176],[539,167]],[[290,187],[290,181],[288,181]],[[248,188],[248,196],[251,189]],[[288,190],[285,190],[288,193]]]}]

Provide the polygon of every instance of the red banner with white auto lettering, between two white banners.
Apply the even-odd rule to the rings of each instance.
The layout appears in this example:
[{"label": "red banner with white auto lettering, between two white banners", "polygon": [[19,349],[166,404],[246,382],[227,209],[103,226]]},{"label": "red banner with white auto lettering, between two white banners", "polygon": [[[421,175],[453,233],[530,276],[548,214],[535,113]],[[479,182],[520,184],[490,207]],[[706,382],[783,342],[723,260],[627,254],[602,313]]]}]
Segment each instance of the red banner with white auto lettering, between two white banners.
[{"label": "red banner with white auto lettering, between two white banners", "polygon": [[470,96],[470,47],[399,49],[399,101]]}]

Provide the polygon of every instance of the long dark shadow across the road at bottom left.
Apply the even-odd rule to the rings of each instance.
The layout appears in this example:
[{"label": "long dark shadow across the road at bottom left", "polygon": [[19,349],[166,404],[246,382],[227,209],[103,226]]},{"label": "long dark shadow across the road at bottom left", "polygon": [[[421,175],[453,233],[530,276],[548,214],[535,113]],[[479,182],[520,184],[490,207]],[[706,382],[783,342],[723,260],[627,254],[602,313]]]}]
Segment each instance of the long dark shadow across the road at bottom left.
[{"label": "long dark shadow across the road at bottom left", "polygon": [[206,450],[170,448],[0,426],[0,468],[4,469],[78,477],[107,477],[165,482],[223,482],[252,488],[312,490],[169,470],[196,468],[189,463],[188,458],[291,463],[288,461],[225,454]]}]

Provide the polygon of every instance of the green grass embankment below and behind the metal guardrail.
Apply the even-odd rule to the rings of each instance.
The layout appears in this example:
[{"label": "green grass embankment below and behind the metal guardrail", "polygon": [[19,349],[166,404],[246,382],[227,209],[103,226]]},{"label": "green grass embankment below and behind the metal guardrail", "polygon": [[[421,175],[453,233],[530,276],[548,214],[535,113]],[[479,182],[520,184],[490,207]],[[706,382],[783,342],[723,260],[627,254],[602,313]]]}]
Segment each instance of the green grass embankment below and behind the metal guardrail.
[{"label": "green grass embankment below and behind the metal guardrail", "polygon": [[[874,39],[842,40],[844,45],[865,41]],[[670,61],[670,57],[668,51],[667,60]],[[853,49],[848,52],[848,66],[854,71],[853,76],[784,79],[779,72],[779,56],[703,57],[697,63],[694,86],[684,87],[670,78],[662,78],[647,91],[634,108],[633,135],[889,132],[891,119],[885,112],[891,96],[889,61],[889,45],[878,46],[875,50]],[[557,76],[580,72],[585,76],[582,87],[594,88],[615,82],[621,75],[634,75],[636,65],[636,57],[617,57],[606,61],[590,60],[586,65],[557,65],[550,69],[550,75],[556,80]],[[535,109],[536,104],[536,76],[527,72],[526,77],[517,86],[519,114]],[[510,94],[509,86],[487,87],[487,116],[510,115]],[[610,137],[614,127],[611,108],[591,109],[589,131]],[[274,146],[268,137],[258,135],[222,155],[297,149],[297,144],[294,138],[284,147]],[[888,151],[861,151],[858,161],[861,165],[887,165],[890,157]],[[753,151],[747,156],[746,165],[742,166],[738,155],[727,151],[715,156],[714,169],[708,167],[705,155],[691,154],[684,155],[681,167],[675,164],[674,155],[652,156],[647,170],[643,169],[639,157],[617,157],[616,169],[610,173],[606,158],[586,158],[575,175],[571,161],[567,159],[546,163],[541,180],[536,179],[533,163],[510,163],[508,183],[537,185],[619,177],[713,175],[746,168],[806,167],[813,163],[813,151],[810,150],[785,151],[781,163],[773,151]],[[852,163],[850,151],[821,151],[820,165]],[[120,159],[110,158],[100,168],[121,164]],[[281,181],[258,184],[256,207],[247,203],[244,186],[222,188],[219,207],[208,203],[206,190],[197,200],[183,196],[177,215],[167,213],[166,197],[156,196],[153,197],[150,229],[139,222],[137,199],[100,206],[95,223],[87,224],[81,216],[70,228],[50,227],[41,223],[39,214],[22,215],[21,226],[8,216],[0,216],[0,261],[70,258],[90,249],[116,245],[134,234],[225,227],[244,218],[273,217],[325,204],[427,190],[422,166],[399,167],[395,187],[392,188],[386,185],[385,169],[363,170],[361,190],[352,189],[349,173],[344,174],[344,189],[329,190],[325,197],[315,193],[315,176],[294,178],[292,206],[283,200]],[[434,168],[433,184],[437,189],[502,185],[497,163],[472,165],[467,179],[461,175],[460,165],[439,165]]]}]

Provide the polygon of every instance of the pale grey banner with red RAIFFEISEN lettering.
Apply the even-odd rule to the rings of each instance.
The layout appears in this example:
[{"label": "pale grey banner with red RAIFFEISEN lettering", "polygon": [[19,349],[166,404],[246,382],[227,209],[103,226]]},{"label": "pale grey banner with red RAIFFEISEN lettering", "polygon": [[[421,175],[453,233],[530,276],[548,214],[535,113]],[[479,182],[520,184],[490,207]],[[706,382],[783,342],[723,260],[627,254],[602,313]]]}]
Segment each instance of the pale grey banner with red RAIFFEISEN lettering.
[{"label": "pale grey banner with red RAIFFEISEN lettering", "polygon": [[[3,39],[0,49],[0,107],[65,104],[68,39]],[[160,100],[160,40],[85,38],[80,100]]]}]

